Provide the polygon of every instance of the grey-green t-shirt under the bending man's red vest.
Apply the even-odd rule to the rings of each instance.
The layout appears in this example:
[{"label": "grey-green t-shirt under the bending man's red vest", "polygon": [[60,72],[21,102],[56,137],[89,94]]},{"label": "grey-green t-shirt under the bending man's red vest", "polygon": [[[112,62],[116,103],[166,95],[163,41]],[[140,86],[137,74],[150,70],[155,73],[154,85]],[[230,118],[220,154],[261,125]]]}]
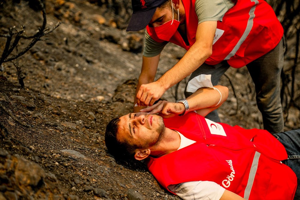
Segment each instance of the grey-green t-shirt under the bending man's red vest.
[{"label": "grey-green t-shirt under the bending man's red vest", "polygon": [[[198,24],[205,21],[222,21],[224,14],[232,8],[232,6],[234,6],[234,3],[231,0],[196,0],[195,12],[198,17]],[[180,26],[185,26],[185,24]],[[185,27],[182,27],[182,29],[184,28]],[[153,40],[146,30],[143,55],[146,57],[157,56],[167,43],[168,41],[157,42]]]}]

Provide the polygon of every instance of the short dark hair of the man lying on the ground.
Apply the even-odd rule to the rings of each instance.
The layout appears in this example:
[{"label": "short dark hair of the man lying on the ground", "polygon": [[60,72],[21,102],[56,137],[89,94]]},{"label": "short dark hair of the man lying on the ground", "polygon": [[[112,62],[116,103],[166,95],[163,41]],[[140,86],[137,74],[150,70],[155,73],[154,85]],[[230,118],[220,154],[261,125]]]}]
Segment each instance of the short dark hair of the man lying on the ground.
[{"label": "short dark hair of the man lying on the ground", "polygon": [[117,140],[119,118],[120,117],[116,117],[107,124],[105,131],[105,145],[108,152],[112,154],[115,159],[134,159],[135,150],[138,148],[137,145],[129,145],[126,142]]}]

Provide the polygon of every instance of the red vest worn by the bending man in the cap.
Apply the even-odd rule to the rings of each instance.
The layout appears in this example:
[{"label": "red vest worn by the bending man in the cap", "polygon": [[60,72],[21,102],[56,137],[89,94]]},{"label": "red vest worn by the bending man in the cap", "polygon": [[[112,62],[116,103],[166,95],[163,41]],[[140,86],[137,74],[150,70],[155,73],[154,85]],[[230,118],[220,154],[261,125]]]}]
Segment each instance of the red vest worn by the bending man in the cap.
[{"label": "red vest worn by the bending man in the cap", "polygon": [[[195,0],[182,0],[185,10],[187,45],[176,31],[170,42],[186,50],[195,43],[198,18],[195,13]],[[149,35],[157,42],[162,42],[155,32],[147,26]],[[227,60],[230,66],[240,68],[274,49],[283,36],[283,28],[273,9],[264,0],[237,0],[229,9],[222,22],[217,21],[215,43],[212,55],[205,61],[215,65]]]}]

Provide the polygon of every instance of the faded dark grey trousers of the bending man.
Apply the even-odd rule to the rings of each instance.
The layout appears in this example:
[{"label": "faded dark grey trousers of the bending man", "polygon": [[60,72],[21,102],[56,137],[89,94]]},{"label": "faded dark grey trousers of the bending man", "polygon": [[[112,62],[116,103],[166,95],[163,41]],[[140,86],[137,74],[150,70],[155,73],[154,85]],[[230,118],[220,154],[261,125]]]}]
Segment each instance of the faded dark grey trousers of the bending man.
[{"label": "faded dark grey trousers of the bending man", "polygon": [[[247,64],[248,71],[255,84],[256,102],[262,113],[264,129],[270,133],[283,131],[284,121],[280,101],[280,74],[283,68],[283,53],[285,51],[285,39],[281,39],[277,46]],[[211,82],[217,85],[220,77],[226,72],[229,65],[222,61],[217,65],[203,63],[190,76],[189,81],[200,74],[211,74]],[[185,88],[184,95],[187,98],[192,93]],[[220,122],[217,111],[212,111],[205,118],[214,122]]]}]

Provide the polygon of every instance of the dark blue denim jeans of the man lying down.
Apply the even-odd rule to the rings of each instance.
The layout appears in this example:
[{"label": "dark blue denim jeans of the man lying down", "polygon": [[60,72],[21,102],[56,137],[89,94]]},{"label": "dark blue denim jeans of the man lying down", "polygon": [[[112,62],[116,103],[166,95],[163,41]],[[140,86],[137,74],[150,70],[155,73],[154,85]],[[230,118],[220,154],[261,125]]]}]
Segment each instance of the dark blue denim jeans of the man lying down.
[{"label": "dark blue denim jeans of the man lying down", "polygon": [[288,159],[283,160],[282,163],[289,166],[297,176],[298,186],[294,199],[298,200],[300,199],[300,129],[276,133],[274,137],[283,144],[288,155]]}]

